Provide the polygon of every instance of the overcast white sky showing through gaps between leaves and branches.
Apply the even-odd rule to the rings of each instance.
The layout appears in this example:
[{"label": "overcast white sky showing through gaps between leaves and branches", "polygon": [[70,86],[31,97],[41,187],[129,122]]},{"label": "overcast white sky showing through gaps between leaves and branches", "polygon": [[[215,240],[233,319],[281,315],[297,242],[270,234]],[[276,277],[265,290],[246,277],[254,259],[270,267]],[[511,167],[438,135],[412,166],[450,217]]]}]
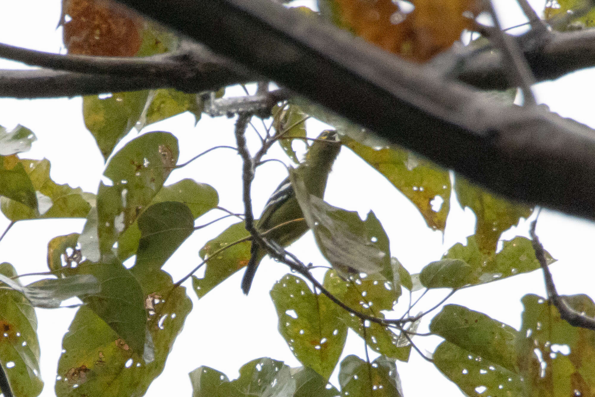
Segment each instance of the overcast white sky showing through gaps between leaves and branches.
[{"label": "overcast white sky showing through gaps between leaves and branches", "polygon": [[[543,8],[543,3],[544,0],[532,2],[537,8]],[[506,15],[503,27],[524,21],[512,0],[497,0],[497,6],[503,11],[502,15]],[[61,31],[55,29],[59,16],[58,0],[2,2],[0,42],[43,51],[63,51]],[[2,60],[0,67],[23,68],[20,64]],[[585,70],[556,82],[541,83],[536,86],[535,92],[538,100],[553,111],[595,127],[591,102],[591,92],[595,90],[594,77],[593,70]],[[236,88],[228,90],[227,94],[242,95],[242,92]],[[0,99],[0,125],[11,129],[21,123],[32,129],[38,140],[32,150],[22,157],[46,157],[52,163],[51,176],[54,181],[96,192],[104,164],[93,138],[84,128],[81,106],[80,98],[33,101]],[[180,140],[180,162],[183,162],[214,145],[233,144],[232,126],[233,120],[210,119],[204,115],[194,126],[193,116],[181,114],[151,125],[143,132],[161,130],[176,134]],[[322,123],[315,120],[309,120],[307,126],[311,136],[316,136],[324,128]],[[126,141],[136,136],[133,130]],[[249,136],[251,143],[256,144],[256,135]],[[271,156],[284,159],[284,154],[277,149]],[[274,162],[268,163],[257,174],[253,189],[256,212],[285,176],[283,167]],[[242,212],[240,159],[232,151],[215,151],[184,169],[174,171],[167,184],[188,177],[211,184],[218,190],[221,206]],[[399,258],[411,273],[419,272],[427,263],[439,259],[446,249],[456,242],[465,241],[465,237],[474,231],[474,216],[469,210],[464,211],[458,206],[453,207],[444,238],[440,232],[430,231],[411,203],[394,190],[386,179],[345,148],[334,165],[325,199],[336,206],[358,210],[362,216],[373,209],[389,235],[392,255]],[[214,216],[205,215],[198,223],[212,218]],[[18,222],[0,243],[0,262],[11,262],[20,273],[45,271],[48,241],[57,235],[80,232],[83,223],[82,219]],[[230,223],[222,221],[195,232],[165,265],[165,270],[173,275],[174,280],[182,277],[196,265],[198,249],[205,241]],[[0,215],[0,230],[4,230],[7,225],[7,219]],[[560,293],[593,294],[594,225],[545,211],[542,212],[537,232],[546,249],[559,260],[552,265],[552,271]],[[519,228],[506,232],[504,237],[509,239],[516,234],[527,235],[527,222],[521,222]],[[306,263],[324,261],[310,234],[294,244],[292,251],[299,253]],[[278,334],[277,316],[268,296],[274,281],[287,271],[285,266],[265,259],[249,297],[243,296],[239,288],[242,272],[211,291],[200,302],[189,290],[194,309],[186,320],[183,333],[176,340],[164,373],[151,385],[147,395],[161,396],[171,393],[174,387],[176,395],[190,396],[187,373],[200,365],[223,371],[230,379],[237,377],[237,370],[242,364],[261,356],[280,359],[294,367],[299,365]],[[522,311],[519,299],[526,293],[545,294],[540,272],[458,291],[449,302],[485,312],[519,328]],[[445,294],[444,290],[430,291],[422,300],[420,309],[433,306]],[[405,300],[402,299],[402,304],[406,304]],[[397,310],[399,308],[397,306]],[[54,395],[61,337],[75,312],[76,309],[37,309],[42,348],[41,369],[45,380],[42,396]],[[422,323],[422,331],[427,328],[427,324],[428,321]],[[433,351],[440,339],[418,337],[415,342],[422,349]],[[350,331],[343,356],[350,353],[362,355],[363,352],[362,340]],[[423,361],[415,352],[412,352],[408,364],[397,362],[397,368],[406,395],[461,395],[454,384],[444,379],[433,365]],[[337,384],[336,373],[331,377],[331,382]]]}]

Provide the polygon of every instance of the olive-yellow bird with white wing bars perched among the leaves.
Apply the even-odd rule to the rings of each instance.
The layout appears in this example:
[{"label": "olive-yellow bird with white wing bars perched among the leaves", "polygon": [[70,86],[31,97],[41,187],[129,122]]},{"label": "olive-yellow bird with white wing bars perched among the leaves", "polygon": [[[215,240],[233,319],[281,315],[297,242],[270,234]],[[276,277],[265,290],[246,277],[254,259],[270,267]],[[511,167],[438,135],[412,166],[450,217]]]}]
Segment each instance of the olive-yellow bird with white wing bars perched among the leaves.
[{"label": "olive-yellow bird with white wing bars perched among the leaves", "polygon": [[[308,192],[313,196],[322,198],[327,187],[328,174],[339,151],[341,143],[339,134],[336,131],[325,130],[310,145],[305,160],[300,163],[297,169],[303,176]],[[289,177],[281,182],[277,189],[271,194],[265,204],[262,215],[256,224],[259,232],[265,232],[271,228],[281,225],[293,219],[303,218],[302,209],[297,202],[295,191]],[[302,221],[290,222],[287,225],[270,231],[265,237],[275,241],[282,247],[287,247],[298,240],[308,231],[308,224]],[[250,247],[250,260],[246,266],[246,272],[242,279],[242,291],[246,295],[250,291],[256,268],[267,251],[252,241]]]}]

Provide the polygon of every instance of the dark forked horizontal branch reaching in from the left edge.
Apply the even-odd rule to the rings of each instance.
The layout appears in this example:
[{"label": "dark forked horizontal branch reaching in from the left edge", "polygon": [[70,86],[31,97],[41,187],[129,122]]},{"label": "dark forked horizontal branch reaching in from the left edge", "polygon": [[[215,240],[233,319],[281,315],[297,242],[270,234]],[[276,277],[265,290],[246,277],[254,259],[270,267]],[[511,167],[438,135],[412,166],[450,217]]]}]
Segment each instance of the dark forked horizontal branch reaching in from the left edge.
[{"label": "dark forked horizontal branch reaching in from the left edge", "polygon": [[198,93],[258,78],[204,46],[189,42],[183,42],[178,52],[146,58],[60,55],[0,44],[0,57],[54,69],[0,70],[0,97],[12,98],[157,88]]}]

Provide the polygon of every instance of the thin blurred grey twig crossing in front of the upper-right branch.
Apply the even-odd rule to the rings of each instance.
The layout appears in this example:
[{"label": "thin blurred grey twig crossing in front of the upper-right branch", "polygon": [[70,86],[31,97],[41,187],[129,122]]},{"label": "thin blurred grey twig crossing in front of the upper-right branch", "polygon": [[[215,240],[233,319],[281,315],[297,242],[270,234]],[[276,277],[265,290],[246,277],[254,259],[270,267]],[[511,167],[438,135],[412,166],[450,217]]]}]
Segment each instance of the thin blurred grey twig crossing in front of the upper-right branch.
[{"label": "thin blurred grey twig crossing in front of the upper-right branch", "polygon": [[522,53],[518,44],[516,44],[516,41],[511,38],[511,36],[506,34],[506,32],[503,32],[492,1],[484,1],[486,1],[489,5],[491,18],[493,19],[494,27],[496,28],[496,34],[492,35],[491,38],[496,40],[496,44],[500,47],[500,49],[502,49],[503,53],[511,63],[512,67],[508,69],[511,78],[518,86],[521,87],[523,91],[524,104],[527,106],[536,105],[537,101],[533,96],[533,91],[531,91],[531,86],[535,84],[536,81],[535,77],[533,77],[533,72],[531,72],[529,64],[527,63],[525,55]]}]

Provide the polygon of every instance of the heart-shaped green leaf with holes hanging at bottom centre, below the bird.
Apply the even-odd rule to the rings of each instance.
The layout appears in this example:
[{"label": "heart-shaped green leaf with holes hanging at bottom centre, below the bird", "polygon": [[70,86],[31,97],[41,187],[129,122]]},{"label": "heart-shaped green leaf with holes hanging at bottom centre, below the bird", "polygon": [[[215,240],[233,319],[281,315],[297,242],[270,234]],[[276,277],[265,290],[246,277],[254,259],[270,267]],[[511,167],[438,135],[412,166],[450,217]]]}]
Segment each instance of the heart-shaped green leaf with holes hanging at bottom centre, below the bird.
[{"label": "heart-shaped green leaf with holes hanging at bottom centre, below the bird", "polygon": [[347,327],[340,320],[343,309],[328,297],[312,293],[305,281],[291,274],[275,283],[271,298],[279,333],[293,354],[328,380],[347,339]]}]

